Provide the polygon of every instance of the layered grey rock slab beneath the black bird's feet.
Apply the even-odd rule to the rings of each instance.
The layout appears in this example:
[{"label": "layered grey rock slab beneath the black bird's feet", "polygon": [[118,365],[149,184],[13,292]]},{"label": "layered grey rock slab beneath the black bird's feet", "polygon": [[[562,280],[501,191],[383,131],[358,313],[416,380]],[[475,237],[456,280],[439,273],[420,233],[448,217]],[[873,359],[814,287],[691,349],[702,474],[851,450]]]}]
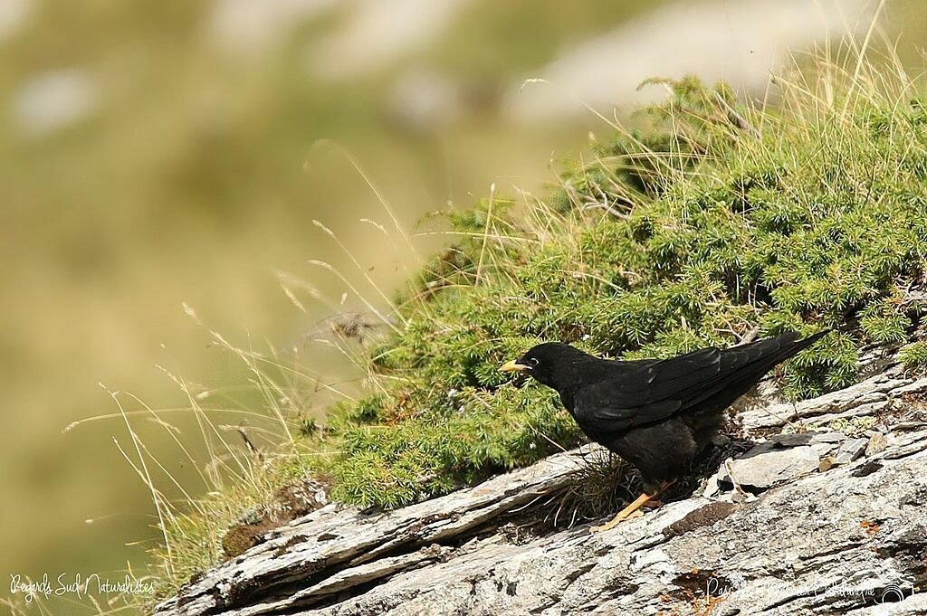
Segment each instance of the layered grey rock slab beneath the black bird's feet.
[{"label": "layered grey rock slab beneath the black bird's feet", "polygon": [[[874,412],[884,409],[872,404],[878,396],[895,405],[893,389],[921,392],[900,374],[869,383],[803,409],[810,417],[862,405]],[[890,416],[880,418],[889,431],[874,455],[819,471],[804,437],[780,439],[788,447],[770,437],[730,463],[738,482],[771,486],[754,486],[758,497],[716,484],[707,497],[602,534],[587,524],[505,531],[576,482],[590,447],[387,513],[328,505],[205,572],[156,613],[925,614],[927,429],[895,431]],[[807,442],[841,451],[852,444],[854,455],[857,441],[859,455],[869,443],[818,437]]]}]

